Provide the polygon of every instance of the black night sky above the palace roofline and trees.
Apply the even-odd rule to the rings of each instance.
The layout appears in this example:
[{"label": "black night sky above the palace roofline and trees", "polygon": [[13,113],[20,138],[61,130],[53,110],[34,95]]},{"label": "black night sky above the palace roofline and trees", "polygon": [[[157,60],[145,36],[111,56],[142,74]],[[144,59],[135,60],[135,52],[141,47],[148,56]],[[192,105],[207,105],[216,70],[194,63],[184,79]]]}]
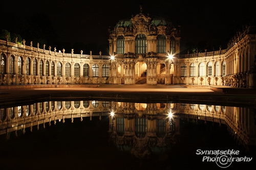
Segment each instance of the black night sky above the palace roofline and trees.
[{"label": "black night sky above the palace roofline and trees", "polygon": [[180,23],[181,45],[211,39],[225,42],[234,28],[255,16],[253,1],[247,0],[9,0],[1,1],[0,28],[18,27],[30,16],[43,13],[52,22],[61,41],[108,44],[108,28],[113,29],[119,19],[138,14],[139,4],[142,4],[144,14],[163,16],[172,20],[175,26]]}]

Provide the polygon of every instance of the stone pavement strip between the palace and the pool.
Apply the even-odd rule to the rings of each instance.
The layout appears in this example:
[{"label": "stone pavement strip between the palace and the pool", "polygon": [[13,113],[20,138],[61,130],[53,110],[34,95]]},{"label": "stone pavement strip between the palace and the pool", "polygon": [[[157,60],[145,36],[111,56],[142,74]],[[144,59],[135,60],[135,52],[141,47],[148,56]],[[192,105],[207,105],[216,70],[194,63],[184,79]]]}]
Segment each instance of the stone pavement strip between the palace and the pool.
[{"label": "stone pavement strip between the palace and the pool", "polygon": [[[225,91],[233,90],[231,93]],[[248,92],[247,92],[248,91]],[[63,99],[119,99],[133,101],[200,101],[256,104],[255,90],[226,86],[182,85],[9,85],[0,86],[0,106]]]}]

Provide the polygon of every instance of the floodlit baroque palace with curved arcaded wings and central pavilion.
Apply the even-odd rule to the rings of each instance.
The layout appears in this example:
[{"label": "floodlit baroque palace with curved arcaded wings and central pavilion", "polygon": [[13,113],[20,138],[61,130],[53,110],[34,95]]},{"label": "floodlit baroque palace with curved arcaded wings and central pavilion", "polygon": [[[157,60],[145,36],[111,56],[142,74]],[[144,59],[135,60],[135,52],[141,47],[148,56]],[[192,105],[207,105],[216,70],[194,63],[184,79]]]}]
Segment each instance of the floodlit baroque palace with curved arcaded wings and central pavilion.
[{"label": "floodlit baroque palace with curved arcaded wings and central pavilion", "polygon": [[[182,84],[256,87],[256,27],[227,49],[180,55],[180,26],[140,13],[109,29],[109,56],[0,40],[0,84]],[[8,39],[8,38],[7,38]]]}]

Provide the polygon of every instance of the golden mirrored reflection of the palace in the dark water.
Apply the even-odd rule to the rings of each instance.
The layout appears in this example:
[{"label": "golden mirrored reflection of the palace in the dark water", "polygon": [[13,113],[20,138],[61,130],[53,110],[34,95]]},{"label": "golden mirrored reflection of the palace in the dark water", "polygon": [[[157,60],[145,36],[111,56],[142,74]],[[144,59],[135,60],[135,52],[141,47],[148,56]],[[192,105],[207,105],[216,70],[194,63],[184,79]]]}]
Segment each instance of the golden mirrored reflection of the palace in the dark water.
[{"label": "golden mirrored reflection of the palace in the dark water", "polygon": [[[255,108],[183,103],[126,103],[109,101],[47,101],[0,109],[0,134],[65,119],[109,116],[109,141],[138,158],[165,152],[180,138],[180,120],[226,125],[245,149],[256,145]],[[7,135],[8,136],[8,135]]]}]

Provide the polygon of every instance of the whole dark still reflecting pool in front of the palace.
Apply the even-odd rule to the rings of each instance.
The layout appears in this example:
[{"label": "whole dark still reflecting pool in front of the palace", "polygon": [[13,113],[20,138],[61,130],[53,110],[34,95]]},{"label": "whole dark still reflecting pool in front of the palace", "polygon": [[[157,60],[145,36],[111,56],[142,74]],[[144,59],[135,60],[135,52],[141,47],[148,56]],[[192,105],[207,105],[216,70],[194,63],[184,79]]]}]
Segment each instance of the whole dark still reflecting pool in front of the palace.
[{"label": "whole dark still reflecting pool in front of the palace", "polygon": [[0,163],[3,169],[247,167],[256,159],[255,110],[111,100],[2,107]]}]

